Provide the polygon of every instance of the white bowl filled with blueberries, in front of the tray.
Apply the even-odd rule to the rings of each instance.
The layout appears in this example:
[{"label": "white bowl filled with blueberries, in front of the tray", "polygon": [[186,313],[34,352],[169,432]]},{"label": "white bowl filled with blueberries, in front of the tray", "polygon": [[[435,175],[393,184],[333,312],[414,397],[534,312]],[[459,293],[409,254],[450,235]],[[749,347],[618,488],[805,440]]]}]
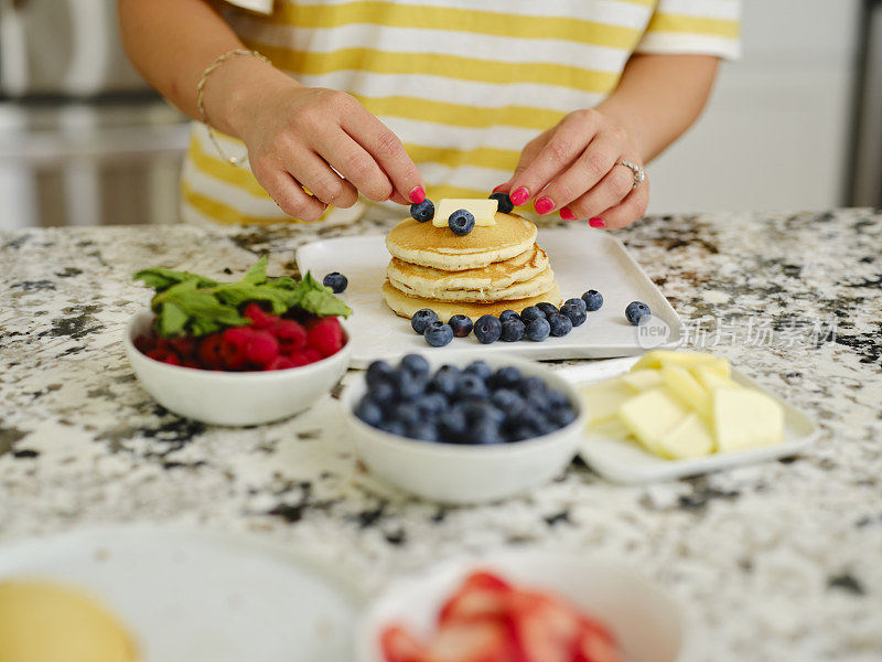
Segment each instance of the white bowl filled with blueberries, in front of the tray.
[{"label": "white bowl filled with blueberries, in front of the tray", "polygon": [[343,405],[372,472],[444,503],[495,501],[552,480],[576,456],[585,418],[576,388],[549,367],[472,352],[375,361]]}]

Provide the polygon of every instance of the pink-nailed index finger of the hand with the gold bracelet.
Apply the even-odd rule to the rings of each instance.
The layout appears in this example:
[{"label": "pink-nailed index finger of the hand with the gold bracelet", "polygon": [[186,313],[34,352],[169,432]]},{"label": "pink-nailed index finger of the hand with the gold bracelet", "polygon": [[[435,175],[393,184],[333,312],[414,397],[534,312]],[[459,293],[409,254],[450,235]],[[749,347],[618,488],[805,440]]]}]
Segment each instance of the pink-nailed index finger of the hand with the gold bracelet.
[{"label": "pink-nailed index finger of the hand with the gold bracelet", "polygon": [[376,159],[404,199],[415,203],[426,200],[426,182],[419,169],[386,125],[362,108],[344,115],[341,127]]}]

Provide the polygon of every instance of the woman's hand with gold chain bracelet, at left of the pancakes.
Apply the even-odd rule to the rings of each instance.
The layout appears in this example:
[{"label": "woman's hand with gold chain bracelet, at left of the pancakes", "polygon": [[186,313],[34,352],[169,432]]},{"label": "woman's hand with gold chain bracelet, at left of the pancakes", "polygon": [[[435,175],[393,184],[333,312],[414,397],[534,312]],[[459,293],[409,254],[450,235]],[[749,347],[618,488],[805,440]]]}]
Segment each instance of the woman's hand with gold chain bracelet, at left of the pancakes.
[{"label": "woman's hand with gold chain bracelet, at left of the pancakes", "polygon": [[[216,82],[211,97],[206,85],[206,111],[211,120],[217,99],[226,120],[219,128],[228,126],[245,142],[257,181],[286,214],[316,221],[327,205],[354,205],[358,192],[377,202],[424,200],[426,184],[401,141],[353,96],[305,87],[247,60],[251,66],[237,68],[254,75],[240,75],[235,92],[223,95],[230,76]],[[230,66],[226,73],[236,71]]]}]

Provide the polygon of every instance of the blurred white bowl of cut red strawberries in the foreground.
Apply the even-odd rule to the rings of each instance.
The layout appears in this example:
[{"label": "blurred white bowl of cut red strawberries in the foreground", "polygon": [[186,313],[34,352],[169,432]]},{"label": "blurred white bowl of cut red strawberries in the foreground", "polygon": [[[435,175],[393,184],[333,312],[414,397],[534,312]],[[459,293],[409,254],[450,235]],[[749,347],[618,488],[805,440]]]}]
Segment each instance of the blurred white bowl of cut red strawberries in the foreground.
[{"label": "blurred white bowl of cut red strawberries in the foreground", "polygon": [[461,558],[374,598],[357,662],[675,662],[679,605],[626,565],[545,552]]}]

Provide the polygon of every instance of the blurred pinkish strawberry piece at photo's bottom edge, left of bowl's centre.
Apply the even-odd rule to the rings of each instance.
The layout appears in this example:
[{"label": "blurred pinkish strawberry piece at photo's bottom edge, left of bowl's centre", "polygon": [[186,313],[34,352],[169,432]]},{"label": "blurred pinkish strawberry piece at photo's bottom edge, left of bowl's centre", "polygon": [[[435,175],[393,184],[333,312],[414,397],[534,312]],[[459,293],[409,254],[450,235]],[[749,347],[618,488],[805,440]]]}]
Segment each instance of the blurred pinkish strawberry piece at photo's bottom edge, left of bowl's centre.
[{"label": "blurred pinkish strawberry piece at photo's bottom edge, left of bowl's centre", "polygon": [[[476,621],[443,626],[418,662],[514,662],[508,629],[503,623]],[[569,662],[569,661],[568,661]]]}]

